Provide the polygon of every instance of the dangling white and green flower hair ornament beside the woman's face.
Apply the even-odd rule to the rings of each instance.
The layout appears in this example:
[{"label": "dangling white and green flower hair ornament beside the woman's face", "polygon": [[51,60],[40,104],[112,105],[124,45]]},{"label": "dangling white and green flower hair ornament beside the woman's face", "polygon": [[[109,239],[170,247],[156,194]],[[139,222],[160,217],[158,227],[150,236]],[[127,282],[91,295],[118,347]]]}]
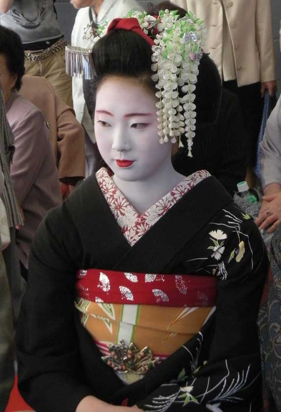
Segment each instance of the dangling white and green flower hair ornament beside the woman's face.
[{"label": "dangling white and green flower hair ornament beside the woman's face", "polygon": [[[152,47],[152,76],[156,82],[156,103],[160,143],[187,139],[188,156],[192,157],[196,129],[195,84],[203,56],[205,39],[203,21],[191,12],[179,19],[177,11],[160,11],[158,34]],[[182,96],[180,97],[180,90]]]}]

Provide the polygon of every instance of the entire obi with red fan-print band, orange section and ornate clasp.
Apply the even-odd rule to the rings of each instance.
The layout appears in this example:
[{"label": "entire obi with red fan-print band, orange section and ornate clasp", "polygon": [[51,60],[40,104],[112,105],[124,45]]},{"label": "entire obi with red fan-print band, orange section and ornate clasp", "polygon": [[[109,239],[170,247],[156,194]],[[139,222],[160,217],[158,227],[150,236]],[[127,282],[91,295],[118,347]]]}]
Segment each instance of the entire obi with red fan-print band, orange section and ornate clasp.
[{"label": "entire obi with red fan-print band, orange section and ornate clasp", "polygon": [[76,291],[103,361],[130,383],[199,332],[215,310],[216,279],[87,269],[78,271]]}]

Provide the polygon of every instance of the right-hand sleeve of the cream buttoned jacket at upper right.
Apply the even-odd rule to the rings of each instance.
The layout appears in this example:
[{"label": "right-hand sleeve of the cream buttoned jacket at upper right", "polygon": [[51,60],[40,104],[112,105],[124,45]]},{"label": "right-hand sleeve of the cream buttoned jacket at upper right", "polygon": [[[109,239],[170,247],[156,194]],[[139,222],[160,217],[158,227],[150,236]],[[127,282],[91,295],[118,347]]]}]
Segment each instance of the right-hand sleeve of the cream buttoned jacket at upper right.
[{"label": "right-hand sleeve of the cream buttoned jacket at upper right", "polygon": [[270,0],[256,0],[255,26],[260,56],[260,81],[276,80]]}]

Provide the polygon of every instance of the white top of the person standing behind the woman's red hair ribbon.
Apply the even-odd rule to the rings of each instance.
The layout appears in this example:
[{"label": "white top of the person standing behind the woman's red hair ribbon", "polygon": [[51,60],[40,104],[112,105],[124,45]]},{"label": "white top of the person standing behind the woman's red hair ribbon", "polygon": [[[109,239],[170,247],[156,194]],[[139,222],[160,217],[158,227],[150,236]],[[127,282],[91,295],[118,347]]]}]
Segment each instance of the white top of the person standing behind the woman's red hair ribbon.
[{"label": "white top of the person standing behind the woman's red hair ribbon", "polygon": [[[92,14],[93,19],[97,24],[104,24],[105,22],[109,24],[116,17],[125,16],[130,10],[142,11],[143,8],[137,3],[136,0],[104,0],[97,18],[93,8]],[[75,24],[71,34],[72,46],[78,46],[84,49],[91,49],[93,47],[90,40],[83,39],[84,28],[87,24],[90,24],[89,7],[84,7],[77,12]],[[91,140],[95,142],[94,124],[85,104],[82,79],[75,77],[73,78],[72,94],[77,120],[84,126]]]}]

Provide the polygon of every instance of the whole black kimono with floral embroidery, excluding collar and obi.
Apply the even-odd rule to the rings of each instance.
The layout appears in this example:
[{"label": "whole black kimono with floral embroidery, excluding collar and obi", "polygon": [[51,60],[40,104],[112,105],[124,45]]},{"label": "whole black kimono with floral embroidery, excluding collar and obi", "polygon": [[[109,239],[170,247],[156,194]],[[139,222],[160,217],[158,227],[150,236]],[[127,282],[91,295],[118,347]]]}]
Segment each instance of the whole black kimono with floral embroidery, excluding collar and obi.
[{"label": "whole black kimono with floral embroidery, excluding collar and obi", "polygon": [[[76,272],[196,273],[217,278],[216,310],[175,353],[125,385],[74,308]],[[19,389],[38,412],[76,411],[88,395],[145,411],[258,411],[256,318],[268,260],[250,216],[205,177],[131,247],[89,177],[36,235],[17,330]]]}]

